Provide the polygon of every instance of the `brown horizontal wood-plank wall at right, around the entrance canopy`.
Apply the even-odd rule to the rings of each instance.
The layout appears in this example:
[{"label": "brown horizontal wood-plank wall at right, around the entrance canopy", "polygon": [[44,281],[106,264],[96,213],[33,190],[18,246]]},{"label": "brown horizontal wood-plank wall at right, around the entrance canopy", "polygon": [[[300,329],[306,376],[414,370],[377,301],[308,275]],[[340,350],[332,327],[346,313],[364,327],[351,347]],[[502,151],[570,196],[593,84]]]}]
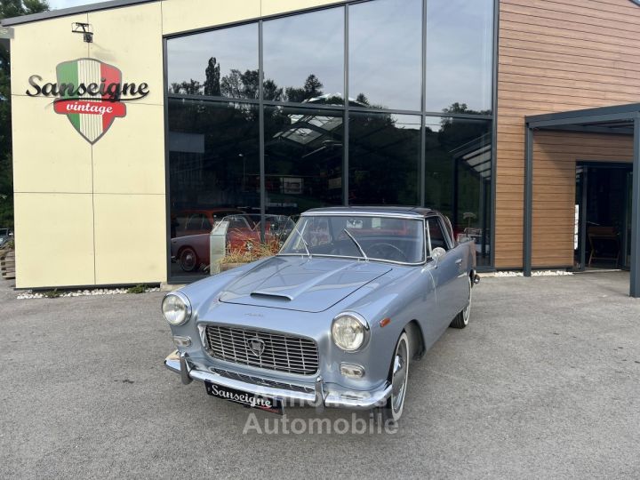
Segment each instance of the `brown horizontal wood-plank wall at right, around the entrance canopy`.
[{"label": "brown horizontal wood-plank wall at right, around the entrance canopy", "polygon": [[[640,102],[640,6],[500,0],[498,70],[495,266],[522,268],[524,116]],[[630,155],[603,137],[536,134],[533,267],[572,264],[575,160]]]}]

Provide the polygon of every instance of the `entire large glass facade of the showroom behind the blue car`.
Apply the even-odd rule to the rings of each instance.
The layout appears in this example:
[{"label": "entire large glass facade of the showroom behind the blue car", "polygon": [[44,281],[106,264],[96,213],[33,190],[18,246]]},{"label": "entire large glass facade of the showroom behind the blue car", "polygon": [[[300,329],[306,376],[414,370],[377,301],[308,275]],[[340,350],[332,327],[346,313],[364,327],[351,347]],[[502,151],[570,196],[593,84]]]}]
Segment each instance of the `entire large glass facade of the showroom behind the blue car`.
[{"label": "entire large glass facade of the showroom behind the blue car", "polygon": [[168,38],[170,281],[207,275],[220,218],[268,240],[341,204],[438,209],[490,266],[494,8],[371,0]]}]

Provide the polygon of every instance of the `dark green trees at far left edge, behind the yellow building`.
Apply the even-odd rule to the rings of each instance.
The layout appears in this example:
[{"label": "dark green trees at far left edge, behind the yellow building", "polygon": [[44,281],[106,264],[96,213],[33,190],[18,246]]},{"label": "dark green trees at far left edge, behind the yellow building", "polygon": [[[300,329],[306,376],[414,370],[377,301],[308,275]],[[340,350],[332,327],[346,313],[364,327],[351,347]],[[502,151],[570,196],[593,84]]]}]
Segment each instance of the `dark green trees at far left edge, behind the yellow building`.
[{"label": "dark green trees at far left edge, behind the yellow building", "polygon": [[[2,0],[0,20],[46,12],[44,0]],[[13,173],[11,137],[11,57],[0,43],[0,227],[13,227]]]}]

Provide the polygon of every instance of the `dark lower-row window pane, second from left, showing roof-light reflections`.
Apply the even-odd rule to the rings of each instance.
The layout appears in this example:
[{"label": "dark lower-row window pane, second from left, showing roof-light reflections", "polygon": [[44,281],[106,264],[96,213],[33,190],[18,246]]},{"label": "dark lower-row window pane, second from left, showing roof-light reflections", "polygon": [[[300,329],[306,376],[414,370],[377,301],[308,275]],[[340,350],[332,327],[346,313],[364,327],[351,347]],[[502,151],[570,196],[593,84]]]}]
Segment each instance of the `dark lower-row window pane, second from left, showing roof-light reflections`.
[{"label": "dark lower-row window pane, second from left, showing roof-light reflections", "polygon": [[342,113],[265,108],[268,213],[342,204]]}]

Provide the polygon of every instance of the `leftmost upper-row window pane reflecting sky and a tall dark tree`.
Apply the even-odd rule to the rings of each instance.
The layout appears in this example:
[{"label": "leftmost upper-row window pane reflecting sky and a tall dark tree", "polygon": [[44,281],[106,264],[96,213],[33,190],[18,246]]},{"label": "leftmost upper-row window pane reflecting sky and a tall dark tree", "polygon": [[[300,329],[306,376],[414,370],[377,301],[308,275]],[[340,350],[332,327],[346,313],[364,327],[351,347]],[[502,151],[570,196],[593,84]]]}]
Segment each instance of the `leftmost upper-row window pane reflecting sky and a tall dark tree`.
[{"label": "leftmost upper-row window pane reflecting sky and a tall dark tree", "polygon": [[167,41],[171,93],[258,98],[258,24]]}]

